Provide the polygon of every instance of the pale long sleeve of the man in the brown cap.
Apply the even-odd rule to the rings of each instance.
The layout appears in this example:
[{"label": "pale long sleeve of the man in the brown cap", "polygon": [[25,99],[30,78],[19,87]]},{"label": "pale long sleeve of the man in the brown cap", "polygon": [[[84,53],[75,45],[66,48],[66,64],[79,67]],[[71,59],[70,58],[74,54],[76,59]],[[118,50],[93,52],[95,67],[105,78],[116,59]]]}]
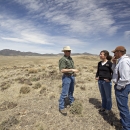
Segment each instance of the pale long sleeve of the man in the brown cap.
[{"label": "pale long sleeve of the man in the brown cap", "polygon": [[127,61],[123,61],[119,68],[119,80],[117,85],[122,88],[130,81],[130,65]]}]

